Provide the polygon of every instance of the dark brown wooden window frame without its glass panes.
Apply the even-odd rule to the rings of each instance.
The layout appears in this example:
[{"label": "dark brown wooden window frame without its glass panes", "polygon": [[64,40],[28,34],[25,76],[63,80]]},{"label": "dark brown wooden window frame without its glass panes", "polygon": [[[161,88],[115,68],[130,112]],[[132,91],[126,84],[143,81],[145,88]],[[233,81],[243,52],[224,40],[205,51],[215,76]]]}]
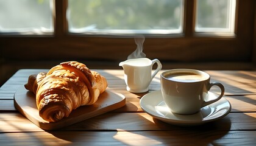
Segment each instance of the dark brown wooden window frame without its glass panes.
[{"label": "dark brown wooden window frame without its glass panes", "polygon": [[[69,33],[67,1],[54,1],[54,35],[0,34],[2,60],[104,60],[113,63],[110,68],[116,68],[119,61],[126,60],[136,49],[131,35]],[[143,52],[146,57],[158,58],[163,64],[219,61],[256,63],[254,0],[236,0],[235,35],[195,32],[195,6],[196,0],[184,0],[183,33],[145,35]],[[163,68],[168,67],[163,65]]]}]

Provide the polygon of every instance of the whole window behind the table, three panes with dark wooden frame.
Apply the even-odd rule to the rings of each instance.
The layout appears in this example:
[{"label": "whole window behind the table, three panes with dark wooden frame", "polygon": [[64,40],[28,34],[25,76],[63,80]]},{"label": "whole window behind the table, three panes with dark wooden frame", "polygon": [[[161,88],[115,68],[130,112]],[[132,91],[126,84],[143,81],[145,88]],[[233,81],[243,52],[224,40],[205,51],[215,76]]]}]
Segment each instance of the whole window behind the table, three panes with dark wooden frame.
[{"label": "whole window behind the table, three panes with dark wooden frame", "polygon": [[[0,7],[9,3],[5,2]],[[29,0],[27,2],[32,4]],[[118,68],[117,62],[126,60],[136,49],[133,39],[136,35],[145,36],[143,52],[146,57],[158,58],[163,63],[247,63],[254,57],[254,0],[87,0],[82,1],[82,5],[77,4],[81,2],[79,0],[33,2],[38,12],[43,13],[29,16],[29,20],[24,21],[27,26],[18,28],[35,27],[39,33],[9,35],[7,30],[14,27],[5,24],[3,19],[6,17],[1,14],[8,13],[11,6],[8,6],[8,10],[5,7],[0,9],[0,56],[4,60],[100,59],[105,63],[112,62],[113,68]],[[105,6],[112,6],[112,2],[120,4]],[[135,2],[147,4],[138,7],[134,5]],[[39,10],[40,5],[44,5],[43,10]],[[149,7],[155,12],[154,19],[149,19],[153,18],[152,14],[149,18],[143,15]],[[204,9],[210,13],[202,13]],[[163,16],[163,13],[171,17]],[[124,15],[126,19],[121,19]],[[40,25],[30,26],[36,22],[34,18],[44,17],[44,23],[37,21]],[[49,35],[49,32],[52,34]],[[163,68],[168,67],[164,64]]]}]

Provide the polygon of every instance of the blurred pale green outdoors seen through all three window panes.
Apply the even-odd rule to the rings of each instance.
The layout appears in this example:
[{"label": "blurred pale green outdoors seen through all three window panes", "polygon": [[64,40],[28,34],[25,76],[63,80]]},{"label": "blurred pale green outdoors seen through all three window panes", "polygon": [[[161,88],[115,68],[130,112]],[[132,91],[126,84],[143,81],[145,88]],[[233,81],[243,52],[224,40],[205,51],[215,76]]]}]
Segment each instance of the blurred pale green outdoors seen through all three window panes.
[{"label": "blurred pale green outdoors seen through all three window panes", "polygon": [[[68,32],[168,35],[183,32],[183,0],[68,0]],[[197,0],[195,32],[233,32],[235,0]],[[54,33],[54,1],[0,0],[0,33]]]}]

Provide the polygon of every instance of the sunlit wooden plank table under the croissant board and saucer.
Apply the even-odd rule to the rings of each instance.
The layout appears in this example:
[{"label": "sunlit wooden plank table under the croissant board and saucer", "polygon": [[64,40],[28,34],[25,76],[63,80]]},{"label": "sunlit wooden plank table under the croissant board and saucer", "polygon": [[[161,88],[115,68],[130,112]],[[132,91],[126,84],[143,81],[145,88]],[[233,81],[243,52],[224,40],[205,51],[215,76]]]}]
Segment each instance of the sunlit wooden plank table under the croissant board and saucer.
[{"label": "sunlit wooden plank table under the croissant board and saucer", "polygon": [[[126,91],[123,70],[96,70],[126,105],[60,130],[45,131],[13,106],[13,94],[42,69],[21,69],[0,88],[0,145],[256,145],[256,71],[206,71],[223,83],[232,105],[224,118],[196,127],[169,125],[144,113],[140,98]],[[149,92],[160,89],[160,72]]]}]

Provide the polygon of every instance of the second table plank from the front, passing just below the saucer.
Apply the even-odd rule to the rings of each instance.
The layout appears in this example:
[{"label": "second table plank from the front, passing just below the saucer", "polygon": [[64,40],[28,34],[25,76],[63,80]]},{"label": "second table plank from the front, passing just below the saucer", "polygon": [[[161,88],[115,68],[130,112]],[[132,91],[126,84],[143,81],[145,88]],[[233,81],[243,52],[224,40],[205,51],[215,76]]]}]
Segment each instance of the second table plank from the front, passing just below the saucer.
[{"label": "second table plank from the front, passing just below the saucer", "polygon": [[[19,113],[0,113],[0,131],[41,131]],[[196,127],[179,127],[154,119],[146,113],[106,113],[84,120],[61,131],[165,131],[256,130],[256,113],[230,113],[226,117]]]}]

